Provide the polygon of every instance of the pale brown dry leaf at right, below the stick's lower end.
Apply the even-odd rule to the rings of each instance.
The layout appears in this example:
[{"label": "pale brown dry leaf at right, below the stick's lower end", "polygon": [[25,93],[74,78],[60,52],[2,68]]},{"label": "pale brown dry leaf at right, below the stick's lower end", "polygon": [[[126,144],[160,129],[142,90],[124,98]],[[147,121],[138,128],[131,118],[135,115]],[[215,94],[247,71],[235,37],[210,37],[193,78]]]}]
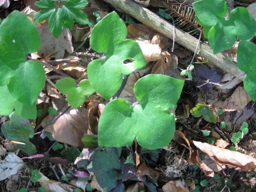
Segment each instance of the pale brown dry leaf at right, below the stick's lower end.
[{"label": "pale brown dry leaf at right, below the stick's lower end", "polygon": [[226,99],[224,102],[217,101],[213,103],[213,105],[215,108],[221,108],[223,111],[241,111],[250,100],[252,99],[245,91],[245,88],[239,85],[230,98]]}]

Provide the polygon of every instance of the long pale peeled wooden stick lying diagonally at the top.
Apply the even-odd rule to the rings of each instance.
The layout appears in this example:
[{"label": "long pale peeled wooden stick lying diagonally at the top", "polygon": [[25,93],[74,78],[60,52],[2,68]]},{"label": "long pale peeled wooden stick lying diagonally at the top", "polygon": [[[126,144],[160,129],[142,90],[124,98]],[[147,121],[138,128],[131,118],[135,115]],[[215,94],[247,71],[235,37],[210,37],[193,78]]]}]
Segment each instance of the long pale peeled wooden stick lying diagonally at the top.
[{"label": "long pale peeled wooden stick lying diagonally at the top", "polygon": [[[131,15],[140,22],[150,26],[154,30],[162,33],[163,35],[173,39],[174,27],[172,24],[162,19],[152,11],[147,8],[140,6],[139,4],[133,2],[132,0],[104,0],[105,2],[111,4],[117,9],[121,9],[124,13]],[[197,41],[195,37],[189,35],[188,33],[175,28],[175,42],[186,47],[192,52],[195,52],[197,47]],[[213,54],[210,46],[205,43],[200,43],[197,54],[201,57],[208,58],[210,63],[222,68],[224,71],[234,75],[236,78],[244,79],[245,73],[239,70],[236,63],[230,60],[225,55]]]}]

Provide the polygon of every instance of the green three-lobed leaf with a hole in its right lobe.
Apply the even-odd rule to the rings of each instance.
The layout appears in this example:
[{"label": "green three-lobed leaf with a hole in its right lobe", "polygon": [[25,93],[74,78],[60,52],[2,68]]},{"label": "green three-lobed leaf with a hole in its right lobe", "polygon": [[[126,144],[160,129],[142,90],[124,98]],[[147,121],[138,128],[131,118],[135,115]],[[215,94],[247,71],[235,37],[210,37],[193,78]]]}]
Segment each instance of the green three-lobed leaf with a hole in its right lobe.
[{"label": "green three-lobed leaf with a hole in its right lobe", "polygon": [[[92,87],[107,100],[121,87],[122,74],[128,75],[146,65],[139,45],[134,40],[124,40],[126,35],[126,26],[116,12],[100,20],[91,33],[91,48],[105,53],[105,58],[89,63],[87,75]],[[127,59],[131,63],[124,64]]]}]

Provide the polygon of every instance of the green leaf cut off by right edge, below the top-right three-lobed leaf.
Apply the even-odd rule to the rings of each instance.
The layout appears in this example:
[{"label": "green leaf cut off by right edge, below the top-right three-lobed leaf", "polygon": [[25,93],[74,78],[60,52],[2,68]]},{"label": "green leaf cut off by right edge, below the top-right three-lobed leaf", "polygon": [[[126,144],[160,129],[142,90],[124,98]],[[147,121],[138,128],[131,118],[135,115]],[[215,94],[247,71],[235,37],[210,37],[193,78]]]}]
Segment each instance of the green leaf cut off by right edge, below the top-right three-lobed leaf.
[{"label": "green leaf cut off by right edge, below the top-right three-lobed leaf", "polygon": [[237,66],[246,73],[243,85],[253,101],[256,101],[256,45],[240,41],[237,48]]}]

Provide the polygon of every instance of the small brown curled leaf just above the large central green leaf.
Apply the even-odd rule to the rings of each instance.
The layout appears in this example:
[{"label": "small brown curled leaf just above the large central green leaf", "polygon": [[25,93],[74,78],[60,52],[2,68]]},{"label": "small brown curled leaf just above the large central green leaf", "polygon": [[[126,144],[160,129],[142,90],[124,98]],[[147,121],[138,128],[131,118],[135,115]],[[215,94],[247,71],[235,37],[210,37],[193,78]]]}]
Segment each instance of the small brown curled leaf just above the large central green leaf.
[{"label": "small brown curled leaf just above the large central green leaf", "polygon": [[167,70],[170,68],[171,63],[173,62],[171,54],[167,51],[161,53],[161,59],[154,61],[151,74],[162,74],[164,75]]}]

